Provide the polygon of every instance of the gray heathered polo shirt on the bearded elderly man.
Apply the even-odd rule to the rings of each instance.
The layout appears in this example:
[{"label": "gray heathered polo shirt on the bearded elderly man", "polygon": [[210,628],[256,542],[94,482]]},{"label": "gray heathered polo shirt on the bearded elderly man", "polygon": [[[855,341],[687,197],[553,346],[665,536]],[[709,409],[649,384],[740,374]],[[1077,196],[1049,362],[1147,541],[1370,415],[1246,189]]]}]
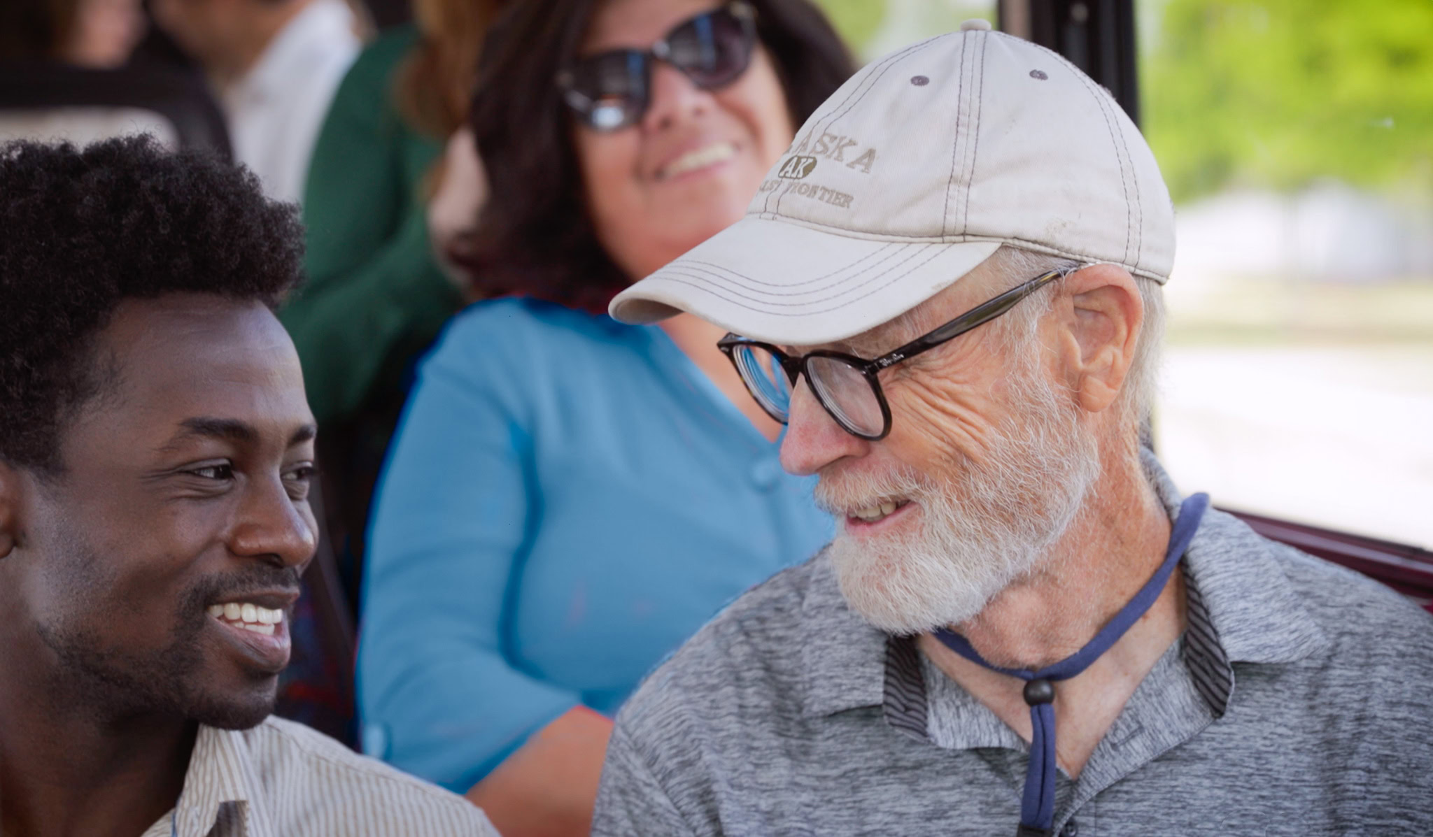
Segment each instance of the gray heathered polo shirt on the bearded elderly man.
[{"label": "gray heathered polo shirt on the bearded elderly man", "polygon": [[[1179,497],[1151,477],[1171,513]],[[1189,625],[1058,834],[1433,834],[1433,618],[1211,510]],[[815,556],[749,590],[618,715],[593,834],[1015,834],[1029,747]]]}]

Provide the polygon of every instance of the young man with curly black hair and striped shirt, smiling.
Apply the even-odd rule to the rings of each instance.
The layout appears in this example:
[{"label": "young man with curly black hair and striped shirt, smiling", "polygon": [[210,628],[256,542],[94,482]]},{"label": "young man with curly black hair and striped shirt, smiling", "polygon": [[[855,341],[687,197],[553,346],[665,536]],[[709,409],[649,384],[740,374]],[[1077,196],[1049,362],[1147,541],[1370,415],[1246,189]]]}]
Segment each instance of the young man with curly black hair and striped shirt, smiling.
[{"label": "young man with curly black hair and striped shirt, smiling", "polygon": [[315,547],[298,269],[239,169],[0,146],[0,834],[494,834],[268,718]]}]

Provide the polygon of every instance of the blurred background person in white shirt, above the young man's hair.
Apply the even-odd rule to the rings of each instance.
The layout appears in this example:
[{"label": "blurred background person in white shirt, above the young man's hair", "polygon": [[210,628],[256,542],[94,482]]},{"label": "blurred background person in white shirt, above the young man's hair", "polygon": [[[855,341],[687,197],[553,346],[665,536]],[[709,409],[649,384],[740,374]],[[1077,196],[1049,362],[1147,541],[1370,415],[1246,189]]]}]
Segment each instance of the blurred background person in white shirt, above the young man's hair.
[{"label": "blurred background person in white shirt, above the young man's hair", "polygon": [[318,126],[358,54],[344,0],[153,0],[152,11],[203,66],[234,156],[277,201],[302,196]]}]

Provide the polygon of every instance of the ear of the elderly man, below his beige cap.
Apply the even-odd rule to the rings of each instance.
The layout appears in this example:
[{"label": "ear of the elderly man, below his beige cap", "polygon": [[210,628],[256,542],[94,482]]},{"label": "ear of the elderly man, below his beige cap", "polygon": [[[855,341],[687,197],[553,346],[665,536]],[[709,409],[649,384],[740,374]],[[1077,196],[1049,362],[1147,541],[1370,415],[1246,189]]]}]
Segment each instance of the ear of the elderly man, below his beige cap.
[{"label": "ear of the elderly man, below his beige cap", "polygon": [[1091,265],[1065,278],[1059,353],[1080,407],[1099,413],[1119,396],[1145,320],[1135,278],[1122,267]]}]

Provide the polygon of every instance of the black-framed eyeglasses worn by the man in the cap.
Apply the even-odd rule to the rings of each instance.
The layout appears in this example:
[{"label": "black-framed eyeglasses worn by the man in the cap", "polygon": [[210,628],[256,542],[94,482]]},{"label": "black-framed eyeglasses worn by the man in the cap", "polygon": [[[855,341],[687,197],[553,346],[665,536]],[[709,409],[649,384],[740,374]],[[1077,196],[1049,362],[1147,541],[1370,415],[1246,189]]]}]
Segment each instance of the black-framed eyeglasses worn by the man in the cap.
[{"label": "black-framed eyeglasses worn by the man in the cap", "polygon": [[791,391],[797,378],[805,374],[815,400],[841,430],[876,441],[891,431],[891,408],[877,373],[984,325],[1060,275],[1060,271],[1050,271],[1035,277],[876,360],[825,350],[792,357],[768,343],[735,334],[721,338],[716,345],[737,367],[751,397],[777,421],[785,424],[791,417]]}]

